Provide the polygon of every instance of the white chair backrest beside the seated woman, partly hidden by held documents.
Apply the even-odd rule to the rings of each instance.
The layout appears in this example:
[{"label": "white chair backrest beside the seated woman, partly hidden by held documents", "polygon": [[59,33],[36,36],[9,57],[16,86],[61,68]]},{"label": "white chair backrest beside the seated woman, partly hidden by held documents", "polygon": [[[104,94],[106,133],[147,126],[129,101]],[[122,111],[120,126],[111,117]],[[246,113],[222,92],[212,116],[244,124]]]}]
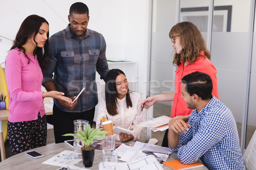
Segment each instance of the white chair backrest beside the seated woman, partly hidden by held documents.
[{"label": "white chair backrest beside the seated woman, partly hidden by held documents", "polygon": [[[143,109],[143,122],[151,119],[151,109]],[[143,134],[140,137],[140,142],[147,143],[151,138],[151,130],[147,127],[143,127]]]}]

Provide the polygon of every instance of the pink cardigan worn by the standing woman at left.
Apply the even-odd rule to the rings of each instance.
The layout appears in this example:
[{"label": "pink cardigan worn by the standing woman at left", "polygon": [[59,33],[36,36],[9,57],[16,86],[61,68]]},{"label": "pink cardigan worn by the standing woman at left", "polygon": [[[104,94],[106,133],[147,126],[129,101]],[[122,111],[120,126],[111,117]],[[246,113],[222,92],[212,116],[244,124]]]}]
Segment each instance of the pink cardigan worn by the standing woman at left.
[{"label": "pink cardigan worn by the standing woman at left", "polygon": [[38,119],[44,116],[44,99],[41,91],[43,74],[36,57],[15,48],[9,51],[5,61],[6,82],[9,91],[9,122]]}]

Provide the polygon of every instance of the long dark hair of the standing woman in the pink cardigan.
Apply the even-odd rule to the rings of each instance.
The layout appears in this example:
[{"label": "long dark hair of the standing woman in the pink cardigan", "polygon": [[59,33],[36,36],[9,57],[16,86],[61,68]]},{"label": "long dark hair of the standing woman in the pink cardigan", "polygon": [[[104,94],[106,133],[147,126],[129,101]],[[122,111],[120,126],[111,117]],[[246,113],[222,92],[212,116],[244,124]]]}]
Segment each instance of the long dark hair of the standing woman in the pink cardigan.
[{"label": "long dark hair of the standing woman in the pink cardigan", "polygon": [[[47,23],[49,26],[49,23],[47,20],[45,20],[43,17],[40,17],[38,15],[29,15],[26,17],[26,19],[23,21],[23,23],[20,26],[19,31],[17,32],[16,38],[13,42],[12,49],[19,48],[19,51],[22,51],[27,59],[29,60],[29,57],[26,55],[25,48],[22,47],[28,40],[28,38],[34,34],[34,37],[30,37],[31,39],[35,41],[35,36],[38,34],[38,31],[43,23]],[[44,48],[36,47],[33,54],[37,56],[39,65],[42,70],[44,70],[46,62],[45,57],[48,55],[48,49],[49,49],[49,32],[47,33],[47,40],[44,44]],[[35,42],[37,45],[37,42]],[[29,64],[30,60],[28,61]]]}]

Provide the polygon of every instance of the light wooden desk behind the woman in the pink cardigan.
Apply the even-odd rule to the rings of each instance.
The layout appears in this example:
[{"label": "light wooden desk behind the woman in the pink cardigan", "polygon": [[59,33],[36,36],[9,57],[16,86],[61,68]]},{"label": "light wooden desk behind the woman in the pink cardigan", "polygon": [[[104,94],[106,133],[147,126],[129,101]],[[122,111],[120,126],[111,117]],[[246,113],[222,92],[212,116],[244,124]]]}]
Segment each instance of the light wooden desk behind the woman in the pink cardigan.
[{"label": "light wooden desk behind the woman in the pink cardigan", "polygon": [[[52,98],[44,98],[44,104],[49,104],[50,100]],[[48,108],[47,106],[44,106],[45,109],[45,114],[46,115],[51,115],[52,114],[52,109]],[[6,159],[6,154],[5,154],[5,148],[4,148],[4,139],[3,139],[3,121],[8,120],[9,117],[9,111],[7,110],[0,110],[0,148],[1,148],[1,159],[2,161]]]}]

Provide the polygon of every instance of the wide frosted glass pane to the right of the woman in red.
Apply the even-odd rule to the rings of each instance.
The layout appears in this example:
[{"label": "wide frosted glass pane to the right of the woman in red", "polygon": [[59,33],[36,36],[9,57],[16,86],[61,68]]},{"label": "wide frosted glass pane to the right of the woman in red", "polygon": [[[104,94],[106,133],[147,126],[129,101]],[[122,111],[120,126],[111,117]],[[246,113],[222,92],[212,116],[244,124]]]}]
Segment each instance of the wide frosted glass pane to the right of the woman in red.
[{"label": "wide frosted glass pane to the right of the woman in red", "polygon": [[[215,0],[214,6],[231,6],[231,10],[223,11],[218,25],[229,25],[230,31],[213,31],[211,61],[217,69],[219,99],[233,113],[241,139],[241,123],[246,87],[246,71],[248,58],[248,29],[250,18],[250,1]],[[230,12],[230,13],[229,13]],[[228,14],[229,13],[229,14]],[[229,16],[229,17],[228,17]],[[220,18],[218,11],[213,11],[213,18]]]}]

